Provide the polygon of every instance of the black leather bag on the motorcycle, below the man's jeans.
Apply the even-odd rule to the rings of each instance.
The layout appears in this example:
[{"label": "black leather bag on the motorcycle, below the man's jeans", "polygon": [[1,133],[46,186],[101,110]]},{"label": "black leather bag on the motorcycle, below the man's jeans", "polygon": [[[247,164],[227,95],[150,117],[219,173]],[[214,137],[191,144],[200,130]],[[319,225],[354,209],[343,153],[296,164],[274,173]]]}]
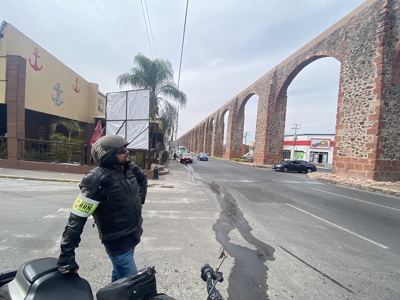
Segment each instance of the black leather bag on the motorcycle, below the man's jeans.
[{"label": "black leather bag on the motorcycle, below the man's jeans", "polygon": [[97,300],[149,300],[157,294],[154,266],[122,277],[99,290]]}]

